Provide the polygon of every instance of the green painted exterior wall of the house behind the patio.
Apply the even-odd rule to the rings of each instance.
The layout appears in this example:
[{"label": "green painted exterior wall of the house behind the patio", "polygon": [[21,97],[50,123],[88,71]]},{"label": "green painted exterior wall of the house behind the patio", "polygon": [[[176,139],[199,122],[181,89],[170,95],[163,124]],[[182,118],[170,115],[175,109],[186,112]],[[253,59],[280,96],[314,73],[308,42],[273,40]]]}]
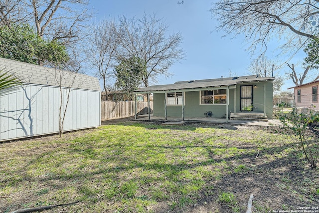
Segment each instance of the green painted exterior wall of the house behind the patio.
[{"label": "green painted exterior wall of the house behind the patio", "polygon": [[[272,82],[239,84],[236,89],[229,89],[229,105],[228,113],[234,112],[234,100],[236,93],[236,112],[240,112],[240,86],[253,85],[253,112],[264,112],[264,85],[266,89],[266,114],[268,118],[272,118],[273,114],[273,85]],[[256,85],[256,88],[254,87]],[[154,116],[164,116],[164,100],[165,93],[154,93]],[[200,104],[200,92],[185,92],[185,117],[205,117],[206,111],[212,112],[212,117],[221,118],[226,114],[226,104]],[[166,106],[168,117],[182,117],[181,106]]]}]

